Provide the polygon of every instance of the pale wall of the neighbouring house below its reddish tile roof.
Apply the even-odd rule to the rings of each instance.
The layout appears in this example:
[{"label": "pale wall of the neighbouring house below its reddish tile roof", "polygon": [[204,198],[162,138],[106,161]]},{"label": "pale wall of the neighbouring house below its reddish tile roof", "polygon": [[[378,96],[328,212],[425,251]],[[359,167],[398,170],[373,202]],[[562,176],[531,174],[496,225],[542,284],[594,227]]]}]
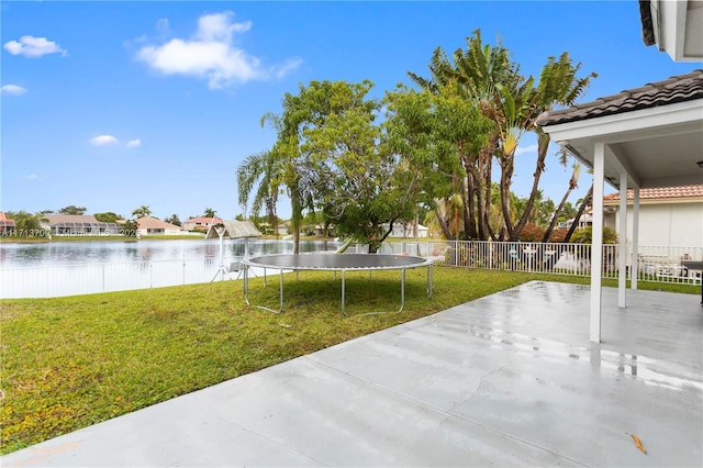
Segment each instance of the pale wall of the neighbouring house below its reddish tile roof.
[{"label": "pale wall of the neighbouring house below its reddish tile roof", "polygon": [[[620,230],[617,208],[605,214],[605,225]],[[627,205],[627,242],[633,239],[633,208]],[[703,203],[639,205],[639,245],[700,247],[703,245]]]}]

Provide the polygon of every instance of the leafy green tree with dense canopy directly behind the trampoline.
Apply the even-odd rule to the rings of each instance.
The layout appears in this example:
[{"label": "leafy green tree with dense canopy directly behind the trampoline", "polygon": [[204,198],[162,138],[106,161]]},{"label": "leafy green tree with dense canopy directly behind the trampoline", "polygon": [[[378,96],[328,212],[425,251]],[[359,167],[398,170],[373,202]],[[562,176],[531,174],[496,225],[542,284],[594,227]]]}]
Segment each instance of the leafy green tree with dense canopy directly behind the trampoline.
[{"label": "leafy green tree with dense canopy directly behind the trampoline", "polygon": [[375,253],[393,223],[413,218],[420,174],[384,144],[375,122],[382,103],[368,98],[371,88],[370,81],[311,83],[313,115],[325,114],[305,129],[300,147],[315,204],[339,236]]}]

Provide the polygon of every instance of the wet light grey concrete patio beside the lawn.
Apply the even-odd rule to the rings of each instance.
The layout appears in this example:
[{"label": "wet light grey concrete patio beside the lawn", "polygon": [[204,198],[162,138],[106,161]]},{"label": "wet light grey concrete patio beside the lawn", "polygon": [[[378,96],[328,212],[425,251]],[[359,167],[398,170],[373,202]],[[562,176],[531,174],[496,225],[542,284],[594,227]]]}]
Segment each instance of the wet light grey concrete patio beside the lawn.
[{"label": "wet light grey concrete patio beside the lawn", "polygon": [[606,288],[596,345],[589,291],[526,283],[0,461],[702,466],[700,296]]}]

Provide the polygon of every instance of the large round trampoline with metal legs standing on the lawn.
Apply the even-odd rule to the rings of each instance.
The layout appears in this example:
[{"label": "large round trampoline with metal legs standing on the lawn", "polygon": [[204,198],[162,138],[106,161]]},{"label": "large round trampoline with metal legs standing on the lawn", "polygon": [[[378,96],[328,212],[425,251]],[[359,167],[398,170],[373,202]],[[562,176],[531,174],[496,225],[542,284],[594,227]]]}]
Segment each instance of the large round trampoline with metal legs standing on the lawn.
[{"label": "large round trampoline with metal legs standing on the lawn", "polygon": [[346,294],[346,272],[347,271],[372,271],[378,270],[401,270],[400,294],[401,304],[398,312],[405,307],[405,270],[411,268],[427,267],[427,297],[432,298],[432,260],[422,257],[405,255],[381,255],[381,254],[282,254],[264,255],[242,260],[244,271],[244,300],[249,303],[249,268],[264,269],[264,286],[266,286],[266,270],[279,270],[280,305],[278,310],[264,305],[254,305],[270,312],[280,313],[283,311],[283,272],[301,270],[323,270],[342,271],[342,314],[346,316],[345,294]]}]

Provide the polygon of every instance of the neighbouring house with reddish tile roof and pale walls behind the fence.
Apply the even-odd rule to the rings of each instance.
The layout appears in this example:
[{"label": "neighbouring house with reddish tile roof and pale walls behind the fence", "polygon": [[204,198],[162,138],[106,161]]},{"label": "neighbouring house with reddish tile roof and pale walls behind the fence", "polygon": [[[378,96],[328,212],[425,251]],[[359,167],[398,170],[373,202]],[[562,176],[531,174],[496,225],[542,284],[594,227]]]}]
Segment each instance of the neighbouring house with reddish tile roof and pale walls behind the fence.
[{"label": "neighbouring house with reddish tile roof and pale walls behind the fence", "polygon": [[[627,242],[633,235],[633,190],[627,190]],[[603,222],[620,230],[620,193],[603,197]],[[703,185],[639,190],[638,244],[703,246]]]}]

